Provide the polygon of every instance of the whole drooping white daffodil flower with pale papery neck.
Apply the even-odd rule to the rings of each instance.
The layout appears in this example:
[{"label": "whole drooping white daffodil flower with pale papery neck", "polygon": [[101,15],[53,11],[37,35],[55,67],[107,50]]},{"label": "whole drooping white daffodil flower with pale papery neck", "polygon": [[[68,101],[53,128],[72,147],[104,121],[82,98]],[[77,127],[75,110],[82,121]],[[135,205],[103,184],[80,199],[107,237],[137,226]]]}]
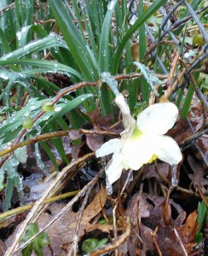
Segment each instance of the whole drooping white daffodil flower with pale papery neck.
[{"label": "whole drooping white daffodil flower with pale papery neck", "polygon": [[[176,122],[176,106],[170,102],[156,103],[143,110],[135,122],[126,111],[127,103],[118,97],[116,102],[123,113],[125,131],[120,139],[115,138],[104,143],[95,152],[96,157],[113,154],[112,160],[106,166],[107,182],[112,184],[118,180],[124,169],[138,170],[157,158],[171,166],[177,165],[182,160],[181,150],[173,138],[164,135]],[[131,123],[129,127],[126,125],[127,119]]]}]

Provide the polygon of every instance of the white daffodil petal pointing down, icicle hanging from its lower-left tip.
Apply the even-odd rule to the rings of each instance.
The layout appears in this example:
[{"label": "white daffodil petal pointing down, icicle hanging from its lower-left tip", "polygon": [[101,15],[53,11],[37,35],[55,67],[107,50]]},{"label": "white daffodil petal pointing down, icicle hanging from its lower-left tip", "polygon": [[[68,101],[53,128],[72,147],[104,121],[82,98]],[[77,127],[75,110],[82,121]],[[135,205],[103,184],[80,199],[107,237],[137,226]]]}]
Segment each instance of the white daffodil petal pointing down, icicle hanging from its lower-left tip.
[{"label": "white daffodil petal pointing down, icicle hanging from its lower-left tip", "polygon": [[116,152],[113,154],[112,160],[107,163],[106,174],[109,183],[113,184],[121,176],[124,169],[122,164],[123,157],[120,153]]}]

